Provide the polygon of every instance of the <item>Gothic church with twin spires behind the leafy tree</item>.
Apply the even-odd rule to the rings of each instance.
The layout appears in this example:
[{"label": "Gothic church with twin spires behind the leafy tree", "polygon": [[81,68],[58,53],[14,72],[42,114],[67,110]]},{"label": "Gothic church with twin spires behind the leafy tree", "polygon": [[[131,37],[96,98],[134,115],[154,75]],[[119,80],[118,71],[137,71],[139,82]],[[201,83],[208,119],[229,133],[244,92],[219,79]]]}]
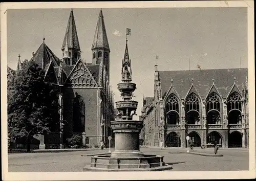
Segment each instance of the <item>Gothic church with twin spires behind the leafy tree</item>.
[{"label": "Gothic church with twin spires behind the leafy tree", "polygon": [[[64,34],[65,32],[63,32]],[[45,70],[45,81],[59,89],[60,132],[39,135],[40,149],[63,148],[65,140],[81,135],[83,144],[95,147],[102,140],[108,145],[113,135],[110,121],[114,120],[114,96],[110,86],[110,46],[102,10],[92,42],[92,63],[81,58],[73,9],[60,45],[58,58],[45,43],[45,38],[32,60]],[[17,71],[20,69],[20,58]],[[14,73],[8,67],[8,76]]]}]

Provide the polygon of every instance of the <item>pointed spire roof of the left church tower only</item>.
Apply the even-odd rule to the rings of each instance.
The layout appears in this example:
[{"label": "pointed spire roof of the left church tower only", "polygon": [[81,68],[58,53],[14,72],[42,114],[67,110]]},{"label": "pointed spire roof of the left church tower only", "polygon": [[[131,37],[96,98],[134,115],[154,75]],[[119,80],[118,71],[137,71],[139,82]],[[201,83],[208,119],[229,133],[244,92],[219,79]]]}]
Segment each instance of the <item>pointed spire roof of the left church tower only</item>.
[{"label": "pointed spire roof of the left church tower only", "polygon": [[61,48],[62,51],[65,49],[67,41],[68,41],[68,48],[80,50],[73,9],[71,9],[71,12],[70,12],[67,30],[62,43],[62,48]]}]

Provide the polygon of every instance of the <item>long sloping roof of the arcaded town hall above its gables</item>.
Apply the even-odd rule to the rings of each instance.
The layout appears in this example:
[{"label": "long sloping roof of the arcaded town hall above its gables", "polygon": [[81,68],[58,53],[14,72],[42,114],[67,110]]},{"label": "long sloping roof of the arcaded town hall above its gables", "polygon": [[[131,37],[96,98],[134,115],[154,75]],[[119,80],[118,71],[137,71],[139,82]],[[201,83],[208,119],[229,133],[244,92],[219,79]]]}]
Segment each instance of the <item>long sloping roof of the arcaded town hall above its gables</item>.
[{"label": "long sloping roof of the arcaded town hall above its gables", "polygon": [[173,87],[181,99],[185,99],[192,82],[201,98],[205,98],[207,96],[213,81],[222,98],[226,98],[228,96],[234,82],[236,82],[238,89],[242,93],[242,87],[246,82],[247,75],[247,68],[159,71],[162,95],[168,92],[173,79]]}]

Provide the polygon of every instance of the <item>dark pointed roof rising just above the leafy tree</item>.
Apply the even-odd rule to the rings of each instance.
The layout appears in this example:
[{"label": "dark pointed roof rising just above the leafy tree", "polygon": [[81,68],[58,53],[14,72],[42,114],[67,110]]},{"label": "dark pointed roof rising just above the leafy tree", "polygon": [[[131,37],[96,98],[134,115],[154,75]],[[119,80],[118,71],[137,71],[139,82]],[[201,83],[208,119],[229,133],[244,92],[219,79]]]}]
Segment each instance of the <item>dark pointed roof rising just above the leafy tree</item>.
[{"label": "dark pointed roof rising just above the leafy tree", "polygon": [[40,47],[35,52],[34,57],[32,58],[35,63],[37,63],[42,69],[46,69],[47,64],[50,63],[52,57],[53,65],[59,66],[59,58],[54,55],[54,53],[49,49],[49,47],[43,42]]}]

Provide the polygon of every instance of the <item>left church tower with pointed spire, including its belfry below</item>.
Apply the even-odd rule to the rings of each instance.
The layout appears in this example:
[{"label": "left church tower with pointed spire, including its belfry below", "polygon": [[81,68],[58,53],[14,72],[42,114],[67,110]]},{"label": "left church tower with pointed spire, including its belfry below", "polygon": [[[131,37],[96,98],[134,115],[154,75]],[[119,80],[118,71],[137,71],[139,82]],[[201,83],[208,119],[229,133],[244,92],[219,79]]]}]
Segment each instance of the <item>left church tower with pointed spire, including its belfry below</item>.
[{"label": "left church tower with pointed spire, including its belfry below", "polygon": [[68,52],[69,52],[68,56],[70,57],[70,61],[67,62],[67,65],[75,65],[80,56],[80,46],[79,46],[78,36],[76,32],[76,24],[75,24],[73,9],[71,9],[71,12],[70,12],[67,30],[62,43],[62,47],[61,47],[63,56],[66,51],[65,49],[66,44],[68,45]]}]

